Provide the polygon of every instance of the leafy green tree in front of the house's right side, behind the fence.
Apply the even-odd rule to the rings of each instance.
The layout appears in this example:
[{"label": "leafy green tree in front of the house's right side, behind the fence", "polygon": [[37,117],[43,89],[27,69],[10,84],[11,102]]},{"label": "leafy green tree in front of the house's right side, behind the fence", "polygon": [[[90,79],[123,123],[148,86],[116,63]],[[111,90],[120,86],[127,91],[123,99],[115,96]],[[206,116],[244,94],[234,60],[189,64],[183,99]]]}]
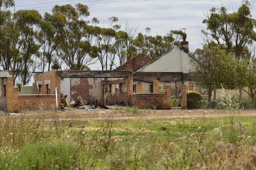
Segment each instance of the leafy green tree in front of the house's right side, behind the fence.
[{"label": "leafy green tree in front of the house's right side, behind the fence", "polygon": [[211,91],[214,85],[217,88],[241,85],[246,67],[240,60],[232,59],[221,46],[211,43],[211,46],[203,46],[203,49],[197,48],[192,54],[196,60],[191,60],[193,80],[197,85],[205,87],[208,90],[208,100],[211,100]]}]

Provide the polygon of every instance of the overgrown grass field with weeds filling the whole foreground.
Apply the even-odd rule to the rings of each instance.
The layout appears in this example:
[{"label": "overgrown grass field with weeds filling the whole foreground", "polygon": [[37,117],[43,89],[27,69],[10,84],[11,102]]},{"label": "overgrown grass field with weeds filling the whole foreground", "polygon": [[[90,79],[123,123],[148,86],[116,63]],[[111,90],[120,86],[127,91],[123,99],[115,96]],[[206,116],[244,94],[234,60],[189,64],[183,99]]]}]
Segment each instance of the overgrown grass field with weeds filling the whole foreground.
[{"label": "overgrown grass field with weeds filling the whole foreground", "polygon": [[56,111],[1,115],[0,169],[255,169],[256,117],[218,114],[227,116],[92,121]]}]

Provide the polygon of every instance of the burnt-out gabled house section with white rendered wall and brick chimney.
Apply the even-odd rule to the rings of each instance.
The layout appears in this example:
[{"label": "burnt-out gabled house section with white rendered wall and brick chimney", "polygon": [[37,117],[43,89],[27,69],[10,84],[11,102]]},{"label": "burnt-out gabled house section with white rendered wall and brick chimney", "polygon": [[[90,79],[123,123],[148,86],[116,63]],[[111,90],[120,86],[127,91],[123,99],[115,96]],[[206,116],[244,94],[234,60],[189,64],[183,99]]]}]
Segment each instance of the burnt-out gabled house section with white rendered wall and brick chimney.
[{"label": "burnt-out gabled house section with white rendered wall and brick chimney", "polygon": [[[181,85],[191,85],[189,81],[189,70],[190,61],[195,60],[189,55],[188,41],[182,41],[181,47],[174,47],[169,51],[165,52],[161,56],[152,60],[149,59],[144,54],[139,54],[144,57],[143,59],[138,57],[134,58],[135,64],[132,60],[127,61],[123,65],[117,67],[116,69],[132,69],[133,72],[133,91],[134,93],[153,93],[153,82],[159,80],[159,89],[164,89],[165,85],[171,86],[171,94],[173,96],[178,96],[180,93]],[[148,58],[146,60],[146,58]],[[150,61],[151,60],[151,61]]]}]

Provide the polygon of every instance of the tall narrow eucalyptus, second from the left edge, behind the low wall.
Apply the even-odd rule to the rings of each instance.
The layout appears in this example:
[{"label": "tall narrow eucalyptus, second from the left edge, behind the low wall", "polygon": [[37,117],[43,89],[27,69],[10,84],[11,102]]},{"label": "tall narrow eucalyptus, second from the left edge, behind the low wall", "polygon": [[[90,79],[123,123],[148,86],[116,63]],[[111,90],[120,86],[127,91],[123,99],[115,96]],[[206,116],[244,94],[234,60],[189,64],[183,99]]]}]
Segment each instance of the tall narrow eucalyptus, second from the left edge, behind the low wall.
[{"label": "tall narrow eucalyptus, second from the left edge, behind the low wall", "polygon": [[19,10],[14,13],[15,28],[19,30],[18,50],[20,60],[20,73],[18,80],[26,85],[31,79],[31,71],[37,66],[36,56],[41,47],[39,31],[42,20],[41,14],[36,10]]}]

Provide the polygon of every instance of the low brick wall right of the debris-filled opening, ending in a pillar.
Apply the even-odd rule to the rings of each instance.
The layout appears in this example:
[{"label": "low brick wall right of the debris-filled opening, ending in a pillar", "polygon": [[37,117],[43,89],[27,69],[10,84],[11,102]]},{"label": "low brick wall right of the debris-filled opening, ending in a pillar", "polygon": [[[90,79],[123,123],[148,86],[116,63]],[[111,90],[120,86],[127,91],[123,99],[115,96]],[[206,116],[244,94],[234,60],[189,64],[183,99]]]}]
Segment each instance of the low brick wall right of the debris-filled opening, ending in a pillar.
[{"label": "low brick wall right of the debris-filled opening, ending in a pillar", "polygon": [[132,93],[131,105],[138,108],[171,109],[171,98],[167,93]]}]

